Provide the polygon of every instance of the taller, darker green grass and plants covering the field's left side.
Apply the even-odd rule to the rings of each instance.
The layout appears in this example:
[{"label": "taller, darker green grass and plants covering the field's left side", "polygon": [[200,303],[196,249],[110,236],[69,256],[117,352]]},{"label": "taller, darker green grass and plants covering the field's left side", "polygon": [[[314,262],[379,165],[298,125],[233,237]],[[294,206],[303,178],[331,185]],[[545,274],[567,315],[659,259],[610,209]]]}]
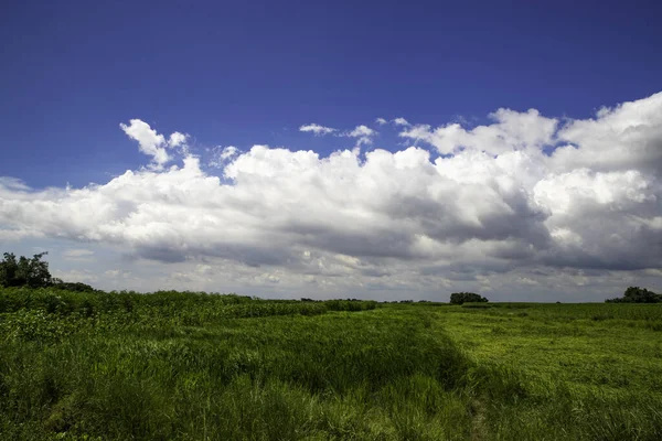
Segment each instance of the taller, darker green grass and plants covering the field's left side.
[{"label": "taller, darker green grass and plants covering the field's left side", "polygon": [[452,439],[470,428],[451,391],[469,362],[419,313],[179,292],[0,299],[2,439]]}]

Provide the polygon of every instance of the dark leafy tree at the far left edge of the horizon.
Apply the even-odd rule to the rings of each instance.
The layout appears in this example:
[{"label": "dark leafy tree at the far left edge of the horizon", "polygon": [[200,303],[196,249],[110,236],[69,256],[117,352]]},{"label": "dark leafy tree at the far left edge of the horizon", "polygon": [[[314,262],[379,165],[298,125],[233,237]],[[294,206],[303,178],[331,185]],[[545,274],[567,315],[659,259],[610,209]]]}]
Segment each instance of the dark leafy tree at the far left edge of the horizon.
[{"label": "dark leafy tree at the far left edge of the horizon", "polygon": [[13,252],[4,252],[0,261],[0,286],[41,288],[51,284],[49,262],[42,261],[47,252],[34,255],[32,259],[21,256],[17,260]]}]

